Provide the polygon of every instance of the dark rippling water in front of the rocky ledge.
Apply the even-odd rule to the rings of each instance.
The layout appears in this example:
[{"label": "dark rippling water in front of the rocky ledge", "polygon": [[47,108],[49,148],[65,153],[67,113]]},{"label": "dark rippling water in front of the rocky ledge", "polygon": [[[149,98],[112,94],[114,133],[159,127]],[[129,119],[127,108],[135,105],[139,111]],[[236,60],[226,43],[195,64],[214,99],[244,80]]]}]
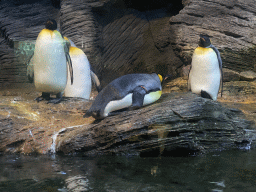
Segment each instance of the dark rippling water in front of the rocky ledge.
[{"label": "dark rippling water in front of the rocky ledge", "polygon": [[197,157],[0,156],[0,191],[256,191],[256,150]]}]

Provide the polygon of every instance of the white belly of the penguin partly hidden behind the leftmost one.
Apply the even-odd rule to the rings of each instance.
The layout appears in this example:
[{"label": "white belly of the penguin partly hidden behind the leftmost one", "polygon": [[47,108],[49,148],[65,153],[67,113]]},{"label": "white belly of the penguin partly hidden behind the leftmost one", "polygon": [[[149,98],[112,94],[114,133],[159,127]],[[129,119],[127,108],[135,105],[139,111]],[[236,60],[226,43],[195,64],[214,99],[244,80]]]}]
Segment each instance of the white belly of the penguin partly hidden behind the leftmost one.
[{"label": "white belly of the penguin partly hidden behind the leftmost one", "polygon": [[84,53],[80,55],[70,54],[70,57],[73,65],[74,81],[71,85],[68,69],[68,81],[64,95],[66,97],[81,97],[89,99],[92,86],[89,61]]}]

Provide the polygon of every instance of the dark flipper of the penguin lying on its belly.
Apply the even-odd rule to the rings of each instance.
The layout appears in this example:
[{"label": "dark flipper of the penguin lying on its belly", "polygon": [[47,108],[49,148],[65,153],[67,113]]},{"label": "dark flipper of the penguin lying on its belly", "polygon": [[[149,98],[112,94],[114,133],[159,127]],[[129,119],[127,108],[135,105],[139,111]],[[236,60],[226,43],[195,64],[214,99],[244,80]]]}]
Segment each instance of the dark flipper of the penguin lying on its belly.
[{"label": "dark flipper of the penguin lying on its belly", "polygon": [[130,109],[136,109],[143,106],[144,96],[147,94],[147,90],[143,86],[138,86],[133,90],[132,94],[132,106]]}]

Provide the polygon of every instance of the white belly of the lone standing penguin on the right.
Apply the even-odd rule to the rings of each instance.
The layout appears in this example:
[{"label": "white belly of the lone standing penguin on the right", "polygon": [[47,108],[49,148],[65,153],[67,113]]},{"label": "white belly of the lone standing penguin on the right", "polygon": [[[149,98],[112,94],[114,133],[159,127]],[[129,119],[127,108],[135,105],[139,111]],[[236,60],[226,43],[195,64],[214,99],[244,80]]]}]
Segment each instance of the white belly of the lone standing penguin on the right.
[{"label": "white belly of the lone standing penguin on the right", "polygon": [[212,50],[206,54],[194,54],[191,65],[191,91],[196,94],[200,94],[201,90],[206,91],[213,100],[217,100],[221,72],[216,53]]}]

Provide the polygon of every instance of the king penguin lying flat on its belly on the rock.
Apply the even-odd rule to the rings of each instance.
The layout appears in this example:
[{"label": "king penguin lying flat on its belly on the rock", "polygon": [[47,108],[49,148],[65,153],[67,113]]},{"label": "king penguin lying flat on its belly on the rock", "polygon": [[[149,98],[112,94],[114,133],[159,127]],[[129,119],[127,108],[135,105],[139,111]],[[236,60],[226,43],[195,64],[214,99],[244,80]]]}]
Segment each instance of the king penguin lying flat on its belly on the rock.
[{"label": "king penguin lying flat on its belly on the rock", "polygon": [[128,74],[121,76],[96,96],[84,117],[103,119],[124,108],[139,108],[157,101],[162,94],[161,75]]}]

